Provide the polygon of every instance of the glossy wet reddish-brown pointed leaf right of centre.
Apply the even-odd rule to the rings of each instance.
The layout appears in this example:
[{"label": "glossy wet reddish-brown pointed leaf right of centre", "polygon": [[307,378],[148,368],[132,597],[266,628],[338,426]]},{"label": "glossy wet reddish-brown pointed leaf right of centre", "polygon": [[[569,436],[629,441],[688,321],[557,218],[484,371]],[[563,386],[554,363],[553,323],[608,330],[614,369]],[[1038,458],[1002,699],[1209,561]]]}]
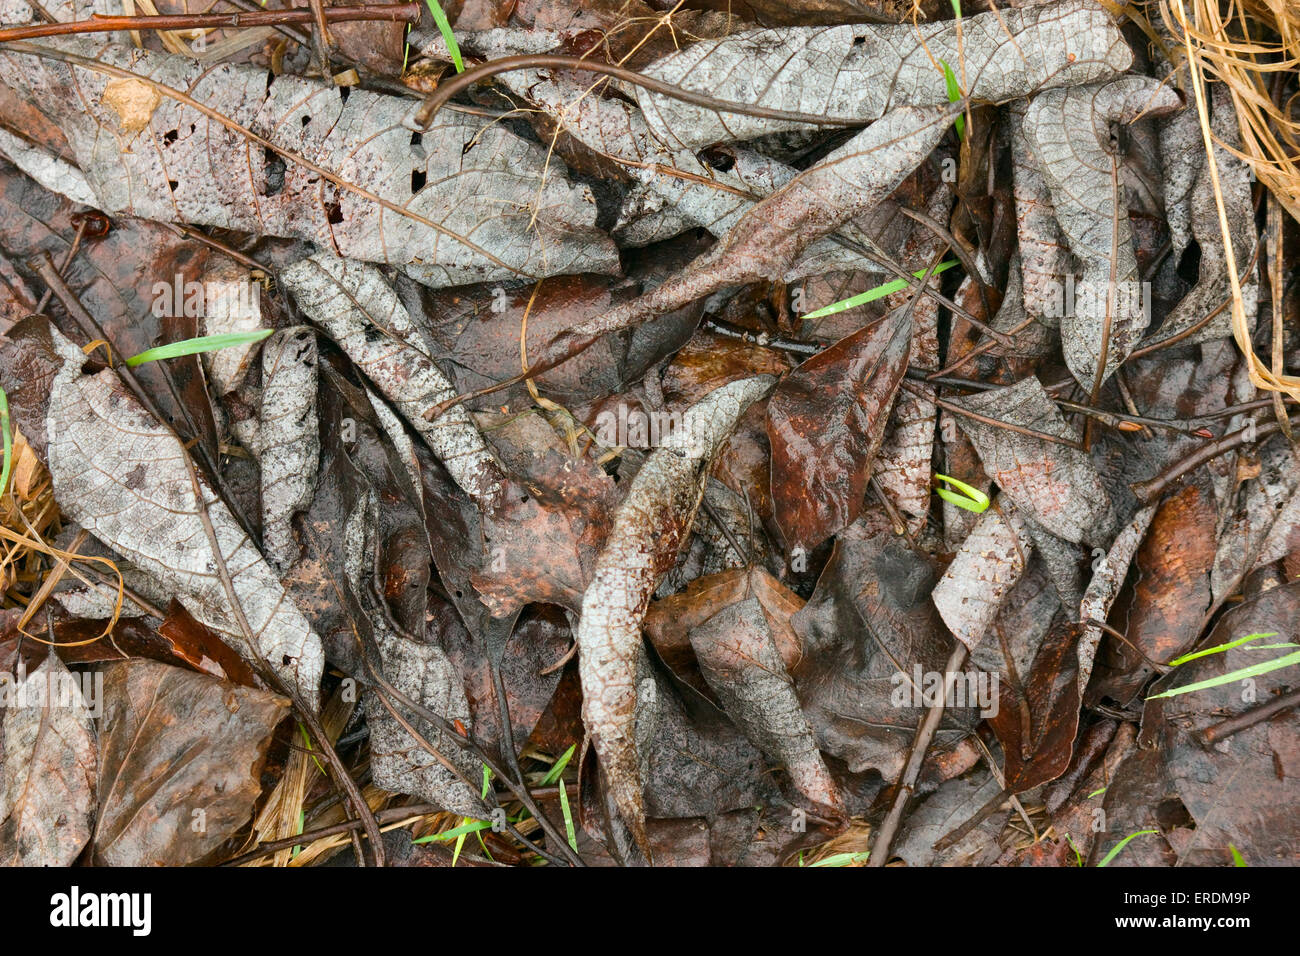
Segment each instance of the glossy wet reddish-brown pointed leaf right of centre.
[{"label": "glossy wet reddish-brown pointed leaf right of centre", "polygon": [[814,355],[772,393],[772,510],[789,545],[811,550],[862,512],[910,345],[910,317],[896,310]]}]

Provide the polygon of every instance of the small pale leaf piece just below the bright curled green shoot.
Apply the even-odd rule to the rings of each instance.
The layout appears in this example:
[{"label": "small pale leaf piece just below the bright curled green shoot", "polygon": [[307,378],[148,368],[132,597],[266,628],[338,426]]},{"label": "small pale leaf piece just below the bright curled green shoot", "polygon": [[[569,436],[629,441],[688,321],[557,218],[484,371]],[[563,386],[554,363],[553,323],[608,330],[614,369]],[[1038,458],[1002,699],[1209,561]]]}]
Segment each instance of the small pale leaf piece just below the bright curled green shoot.
[{"label": "small pale leaf piece just below the bright curled green shoot", "polygon": [[931,593],[957,640],[974,650],[984,639],[1032,553],[1034,542],[1015,506],[1006,497],[994,499]]}]

